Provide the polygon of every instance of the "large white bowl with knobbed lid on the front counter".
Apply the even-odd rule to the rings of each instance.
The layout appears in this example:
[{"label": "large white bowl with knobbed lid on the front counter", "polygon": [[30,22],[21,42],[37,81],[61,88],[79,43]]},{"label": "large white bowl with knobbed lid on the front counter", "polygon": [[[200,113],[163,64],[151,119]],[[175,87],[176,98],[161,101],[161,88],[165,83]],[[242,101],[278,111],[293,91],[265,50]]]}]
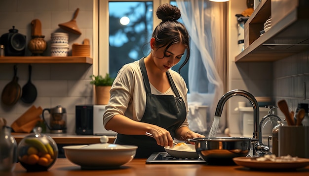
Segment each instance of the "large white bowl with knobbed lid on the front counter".
[{"label": "large white bowl with knobbed lid on the front counter", "polygon": [[65,155],[69,161],[79,165],[81,169],[88,170],[116,169],[132,161],[137,146],[108,144],[102,138],[102,144],[65,146],[63,147]]}]

